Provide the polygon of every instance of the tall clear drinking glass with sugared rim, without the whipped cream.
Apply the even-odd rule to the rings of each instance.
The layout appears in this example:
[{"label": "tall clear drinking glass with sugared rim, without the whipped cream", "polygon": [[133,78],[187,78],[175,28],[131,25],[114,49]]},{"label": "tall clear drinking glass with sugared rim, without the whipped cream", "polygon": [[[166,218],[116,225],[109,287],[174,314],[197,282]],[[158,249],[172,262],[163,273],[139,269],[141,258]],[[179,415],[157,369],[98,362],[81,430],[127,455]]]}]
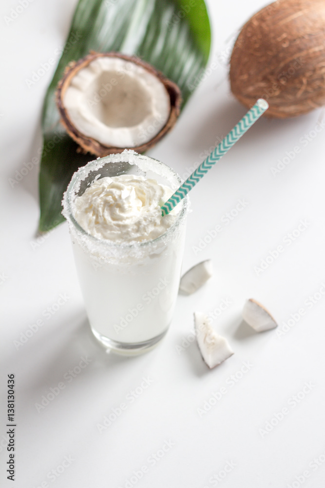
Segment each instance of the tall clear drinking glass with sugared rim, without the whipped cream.
[{"label": "tall clear drinking glass with sugared rim, without the whipped cream", "polygon": [[172,225],[143,242],[115,243],[88,234],[74,217],[74,202],[95,180],[137,175],[177,189],[180,177],[166,164],[124,151],[80,168],[68,186],[63,214],[69,223],[76,269],[95,337],[121,354],[155,346],[166,334],[178,293],[183,259],[187,198]]}]

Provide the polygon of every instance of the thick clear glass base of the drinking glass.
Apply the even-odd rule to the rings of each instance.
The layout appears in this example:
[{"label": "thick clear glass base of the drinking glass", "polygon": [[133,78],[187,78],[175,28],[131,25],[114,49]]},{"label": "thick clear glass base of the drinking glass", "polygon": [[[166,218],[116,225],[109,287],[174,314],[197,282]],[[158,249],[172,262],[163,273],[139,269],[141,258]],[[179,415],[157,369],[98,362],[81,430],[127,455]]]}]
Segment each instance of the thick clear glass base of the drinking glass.
[{"label": "thick clear glass base of the drinking glass", "polygon": [[137,354],[143,354],[144,352],[150,351],[158,345],[158,343],[167,334],[168,330],[166,329],[164,332],[162,332],[162,334],[159,334],[158,336],[153,337],[148,341],[126,343],[113,341],[112,339],[109,339],[108,337],[103,336],[102,334],[97,332],[96,329],[94,329],[92,326],[91,329],[97,341],[99,341],[102,346],[104,346],[106,349],[109,349],[110,351],[113,351],[117,354],[122,354],[124,356],[135,356]]}]

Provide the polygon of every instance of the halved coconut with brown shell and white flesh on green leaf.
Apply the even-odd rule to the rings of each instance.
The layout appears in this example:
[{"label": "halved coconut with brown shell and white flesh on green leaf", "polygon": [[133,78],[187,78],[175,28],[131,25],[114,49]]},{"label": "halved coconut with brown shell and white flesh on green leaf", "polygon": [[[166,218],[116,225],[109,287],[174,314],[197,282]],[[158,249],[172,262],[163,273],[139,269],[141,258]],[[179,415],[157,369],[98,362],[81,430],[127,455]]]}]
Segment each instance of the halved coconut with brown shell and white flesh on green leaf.
[{"label": "halved coconut with brown shell and white flesh on green leaf", "polygon": [[68,134],[96,156],[158,142],[180,112],[178,86],[150,64],[120,53],[95,53],[70,63],[57,88]]}]

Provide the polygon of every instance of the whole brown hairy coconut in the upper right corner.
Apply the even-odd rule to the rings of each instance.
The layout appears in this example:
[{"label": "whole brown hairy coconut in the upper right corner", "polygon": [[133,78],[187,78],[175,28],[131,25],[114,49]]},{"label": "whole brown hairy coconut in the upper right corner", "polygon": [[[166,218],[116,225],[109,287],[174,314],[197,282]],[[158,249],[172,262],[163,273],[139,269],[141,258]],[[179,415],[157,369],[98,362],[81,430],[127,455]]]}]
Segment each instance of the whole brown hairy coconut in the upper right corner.
[{"label": "whole brown hairy coconut in the upper right corner", "polygon": [[325,104],[325,0],[278,0],[242,28],[230,59],[230,86],[266,117],[284,119]]}]

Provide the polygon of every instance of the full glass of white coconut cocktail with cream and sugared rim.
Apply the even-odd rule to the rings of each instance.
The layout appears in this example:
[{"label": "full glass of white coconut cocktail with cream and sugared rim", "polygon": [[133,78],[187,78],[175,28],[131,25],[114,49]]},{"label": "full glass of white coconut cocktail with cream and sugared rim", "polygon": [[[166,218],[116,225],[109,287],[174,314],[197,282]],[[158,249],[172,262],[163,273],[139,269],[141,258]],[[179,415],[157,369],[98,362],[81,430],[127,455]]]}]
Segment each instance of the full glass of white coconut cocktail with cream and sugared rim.
[{"label": "full glass of white coconut cocktail with cream and sugared rim", "polygon": [[180,185],[168,166],[131,150],[80,168],[63,206],[89,322],[120,353],[166,334],[178,293],[187,199],[162,216]]}]

